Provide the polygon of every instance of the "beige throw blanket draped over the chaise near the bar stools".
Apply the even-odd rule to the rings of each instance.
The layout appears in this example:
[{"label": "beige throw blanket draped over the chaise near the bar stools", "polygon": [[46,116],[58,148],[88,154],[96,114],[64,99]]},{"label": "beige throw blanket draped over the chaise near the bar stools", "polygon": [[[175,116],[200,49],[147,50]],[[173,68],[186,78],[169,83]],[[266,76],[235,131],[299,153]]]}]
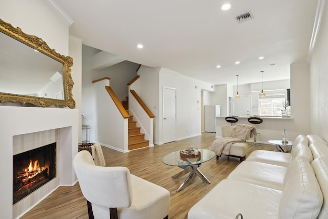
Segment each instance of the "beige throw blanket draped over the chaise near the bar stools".
[{"label": "beige throw blanket draped over the chaise near the bar stools", "polygon": [[227,137],[216,138],[211,145],[210,150],[218,156],[221,156],[221,154],[229,155],[232,144],[245,142],[256,134],[255,126],[237,124],[233,126]]}]

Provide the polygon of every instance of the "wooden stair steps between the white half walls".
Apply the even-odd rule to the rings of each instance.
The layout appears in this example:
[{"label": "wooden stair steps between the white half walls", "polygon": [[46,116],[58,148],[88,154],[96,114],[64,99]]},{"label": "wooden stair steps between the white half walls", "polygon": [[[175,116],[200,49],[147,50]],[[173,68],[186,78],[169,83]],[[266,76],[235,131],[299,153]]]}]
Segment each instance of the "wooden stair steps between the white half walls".
[{"label": "wooden stair steps between the white half walls", "polygon": [[[124,109],[129,113],[129,98],[126,101],[122,101]],[[130,115],[130,113],[129,113]],[[137,122],[133,120],[133,115],[130,115],[128,126],[128,145],[129,150],[144,148],[149,146],[149,141],[145,140],[145,134],[140,133],[140,127],[137,127]]]}]

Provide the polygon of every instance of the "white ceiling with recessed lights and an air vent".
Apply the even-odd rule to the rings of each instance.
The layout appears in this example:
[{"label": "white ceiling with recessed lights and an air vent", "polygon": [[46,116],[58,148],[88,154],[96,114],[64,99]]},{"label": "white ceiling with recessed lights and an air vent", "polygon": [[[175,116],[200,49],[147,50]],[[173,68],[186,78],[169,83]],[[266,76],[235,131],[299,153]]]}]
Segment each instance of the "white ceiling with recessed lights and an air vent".
[{"label": "white ceiling with recessed lights and an air vent", "polygon": [[[260,82],[260,71],[264,82],[290,78],[290,64],[308,58],[318,0],[52,2],[72,18],[70,34],[85,45],[214,85],[235,85],[236,74],[239,84]],[[222,11],[227,2],[232,8]],[[246,12],[254,18],[237,23]]]}]

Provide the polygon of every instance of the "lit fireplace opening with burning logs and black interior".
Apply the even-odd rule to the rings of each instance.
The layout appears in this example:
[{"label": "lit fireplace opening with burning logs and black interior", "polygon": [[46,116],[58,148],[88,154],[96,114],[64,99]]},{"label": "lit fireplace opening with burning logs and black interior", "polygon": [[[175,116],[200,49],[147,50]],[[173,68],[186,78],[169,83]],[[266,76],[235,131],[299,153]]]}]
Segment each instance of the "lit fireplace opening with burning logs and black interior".
[{"label": "lit fireplace opening with burning logs and black interior", "polygon": [[13,156],[13,204],[56,176],[56,143]]}]

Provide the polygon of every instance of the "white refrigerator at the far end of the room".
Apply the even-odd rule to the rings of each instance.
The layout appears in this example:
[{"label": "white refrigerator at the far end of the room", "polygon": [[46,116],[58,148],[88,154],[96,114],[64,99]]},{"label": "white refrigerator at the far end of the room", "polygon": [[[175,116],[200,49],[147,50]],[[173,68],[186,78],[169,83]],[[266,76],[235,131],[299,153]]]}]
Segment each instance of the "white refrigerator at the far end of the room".
[{"label": "white refrigerator at the far end of the room", "polygon": [[204,106],[204,131],[216,132],[216,116],[220,116],[220,105]]}]

